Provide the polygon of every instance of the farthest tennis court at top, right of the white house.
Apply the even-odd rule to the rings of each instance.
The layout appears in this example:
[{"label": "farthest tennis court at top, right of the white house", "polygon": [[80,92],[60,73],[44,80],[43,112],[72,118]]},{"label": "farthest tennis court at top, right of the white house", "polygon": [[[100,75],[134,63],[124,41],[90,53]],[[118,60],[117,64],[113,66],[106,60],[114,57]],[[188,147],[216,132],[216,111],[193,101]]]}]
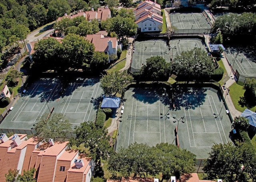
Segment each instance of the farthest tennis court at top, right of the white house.
[{"label": "farthest tennis court at top, right of the white house", "polygon": [[[202,13],[171,13],[172,25],[178,29],[210,29],[211,26]],[[190,33],[190,32],[183,32]],[[203,33],[203,32],[196,32]]]}]

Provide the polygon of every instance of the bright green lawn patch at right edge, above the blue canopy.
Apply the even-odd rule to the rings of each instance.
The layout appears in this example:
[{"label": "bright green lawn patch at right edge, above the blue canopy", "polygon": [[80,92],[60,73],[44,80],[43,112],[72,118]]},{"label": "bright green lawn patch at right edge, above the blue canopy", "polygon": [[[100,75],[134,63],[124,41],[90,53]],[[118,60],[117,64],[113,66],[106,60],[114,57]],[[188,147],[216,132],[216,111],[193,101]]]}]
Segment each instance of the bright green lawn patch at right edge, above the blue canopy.
[{"label": "bright green lawn patch at right edge, above the blue canopy", "polygon": [[[246,107],[242,107],[240,106],[240,104],[238,103],[238,101],[240,100],[240,97],[244,96],[244,92],[245,90],[243,90],[243,86],[234,83],[229,87],[230,91],[230,97],[232,99],[232,102],[236,108],[236,110],[240,111],[240,112],[244,112],[244,110],[246,109]],[[248,108],[251,111],[255,112],[256,110],[256,106],[254,106],[253,108]]]}]

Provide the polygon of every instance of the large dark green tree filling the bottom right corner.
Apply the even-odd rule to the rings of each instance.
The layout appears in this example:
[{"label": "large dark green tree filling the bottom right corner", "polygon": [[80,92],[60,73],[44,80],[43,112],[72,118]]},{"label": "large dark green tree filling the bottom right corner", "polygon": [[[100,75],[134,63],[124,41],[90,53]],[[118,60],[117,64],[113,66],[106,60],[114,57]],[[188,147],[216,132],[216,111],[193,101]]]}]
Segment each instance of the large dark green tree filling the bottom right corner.
[{"label": "large dark green tree filling the bottom right corner", "polygon": [[256,155],[248,143],[214,144],[204,163],[208,179],[221,178],[226,182],[246,182],[256,180]]}]

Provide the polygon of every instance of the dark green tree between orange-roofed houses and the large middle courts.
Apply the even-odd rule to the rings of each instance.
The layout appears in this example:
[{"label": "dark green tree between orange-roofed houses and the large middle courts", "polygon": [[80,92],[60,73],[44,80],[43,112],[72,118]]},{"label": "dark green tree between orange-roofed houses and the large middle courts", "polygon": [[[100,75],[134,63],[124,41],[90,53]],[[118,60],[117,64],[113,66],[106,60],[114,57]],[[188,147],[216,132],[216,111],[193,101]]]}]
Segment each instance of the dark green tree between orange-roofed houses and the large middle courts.
[{"label": "dark green tree between orange-roofed houses and the large middle courts", "polygon": [[76,138],[72,137],[70,139],[71,145],[84,144],[84,147],[90,151],[89,155],[96,160],[96,163],[100,162],[100,159],[107,159],[112,153],[112,147],[108,143],[110,136],[105,127],[96,127],[94,123],[88,121],[76,126],[74,133]]}]

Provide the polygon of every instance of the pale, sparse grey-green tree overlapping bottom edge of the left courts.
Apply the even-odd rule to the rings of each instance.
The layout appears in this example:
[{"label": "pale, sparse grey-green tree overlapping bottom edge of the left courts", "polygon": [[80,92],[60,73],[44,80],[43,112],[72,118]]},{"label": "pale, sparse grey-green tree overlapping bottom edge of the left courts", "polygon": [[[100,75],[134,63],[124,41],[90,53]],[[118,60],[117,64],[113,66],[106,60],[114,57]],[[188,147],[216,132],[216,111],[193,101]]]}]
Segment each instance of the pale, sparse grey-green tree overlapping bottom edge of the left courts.
[{"label": "pale, sparse grey-green tree overlapping bottom edge of the left courts", "polygon": [[38,118],[38,122],[35,124],[35,135],[54,140],[56,140],[56,137],[66,138],[67,133],[72,131],[71,126],[70,121],[66,119],[64,114],[54,113],[48,117],[48,113],[46,113]]}]

